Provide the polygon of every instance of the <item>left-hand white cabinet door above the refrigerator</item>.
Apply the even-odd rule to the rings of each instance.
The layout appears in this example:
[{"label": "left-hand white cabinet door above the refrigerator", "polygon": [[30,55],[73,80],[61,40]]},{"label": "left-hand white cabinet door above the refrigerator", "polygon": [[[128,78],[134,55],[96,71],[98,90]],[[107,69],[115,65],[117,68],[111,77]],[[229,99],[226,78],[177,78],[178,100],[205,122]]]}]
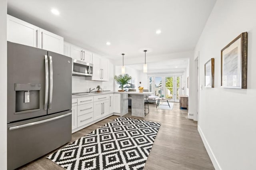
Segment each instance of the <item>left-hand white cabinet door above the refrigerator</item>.
[{"label": "left-hand white cabinet door above the refrigerator", "polygon": [[7,15],[7,41],[39,47],[39,27]]}]

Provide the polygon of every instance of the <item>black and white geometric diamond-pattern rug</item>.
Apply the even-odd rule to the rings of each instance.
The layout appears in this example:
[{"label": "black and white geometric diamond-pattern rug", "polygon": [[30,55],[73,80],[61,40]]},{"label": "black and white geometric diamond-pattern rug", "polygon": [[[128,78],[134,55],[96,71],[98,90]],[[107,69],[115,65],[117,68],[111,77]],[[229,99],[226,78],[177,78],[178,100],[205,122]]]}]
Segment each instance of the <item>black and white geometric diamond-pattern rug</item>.
[{"label": "black and white geometric diamond-pattern rug", "polygon": [[47,158],[67,170],[142,170],[160,126],[118,117]]}]

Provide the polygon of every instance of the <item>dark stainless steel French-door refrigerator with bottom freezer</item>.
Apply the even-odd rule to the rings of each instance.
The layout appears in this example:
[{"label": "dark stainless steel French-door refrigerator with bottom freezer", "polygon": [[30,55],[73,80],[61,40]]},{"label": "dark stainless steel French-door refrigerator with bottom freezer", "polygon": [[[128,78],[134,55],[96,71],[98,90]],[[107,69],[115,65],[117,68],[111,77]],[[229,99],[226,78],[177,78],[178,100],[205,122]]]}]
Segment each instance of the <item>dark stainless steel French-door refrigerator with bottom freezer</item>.
[{"label": "dark stainless steel French-door refrigerator with bottom freezer", "polygon": [[7,164],[15,169],[71,140],[72,58],[7,47]]}]

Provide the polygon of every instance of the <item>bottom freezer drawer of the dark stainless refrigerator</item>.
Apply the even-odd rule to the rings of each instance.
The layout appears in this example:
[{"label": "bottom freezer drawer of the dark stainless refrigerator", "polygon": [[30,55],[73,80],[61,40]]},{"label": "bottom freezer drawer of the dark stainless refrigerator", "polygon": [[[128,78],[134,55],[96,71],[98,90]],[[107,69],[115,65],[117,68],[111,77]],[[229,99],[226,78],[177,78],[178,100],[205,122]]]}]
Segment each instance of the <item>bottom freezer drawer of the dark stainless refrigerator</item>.
[{"label": "bottom freezer drawer of the dark stainless refrigerator", "polygon": [[18,168],[71,140],[71,111],[7,124],[7,167]]}]

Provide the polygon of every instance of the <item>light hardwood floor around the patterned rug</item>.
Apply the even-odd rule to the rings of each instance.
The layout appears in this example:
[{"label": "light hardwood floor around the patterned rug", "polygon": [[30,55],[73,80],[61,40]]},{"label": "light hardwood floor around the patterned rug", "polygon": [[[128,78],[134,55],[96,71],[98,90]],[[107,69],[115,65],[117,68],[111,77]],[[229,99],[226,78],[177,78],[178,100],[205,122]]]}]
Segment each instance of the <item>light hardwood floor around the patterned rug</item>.
[{"label": "light hardwood floor around the patterned rug", "polygon": [[[144,120],[162,123],[153,148],[146,161],[145,170],[214,170],[197,130],[197,122],[188,119],[188,111],[180,110],[174,103],[173,110],[156,109],[150,104],[150,113]],[[132,117],[130,113],[125,115]],[[111,116],[72,134],[72,141],[105,125],[117,116]],[[136,117],[134,117],[136,118]],[[139,118],[140,119],[140,118]],[[46,156],[21,168],[22,170],[63,170]]]}]

